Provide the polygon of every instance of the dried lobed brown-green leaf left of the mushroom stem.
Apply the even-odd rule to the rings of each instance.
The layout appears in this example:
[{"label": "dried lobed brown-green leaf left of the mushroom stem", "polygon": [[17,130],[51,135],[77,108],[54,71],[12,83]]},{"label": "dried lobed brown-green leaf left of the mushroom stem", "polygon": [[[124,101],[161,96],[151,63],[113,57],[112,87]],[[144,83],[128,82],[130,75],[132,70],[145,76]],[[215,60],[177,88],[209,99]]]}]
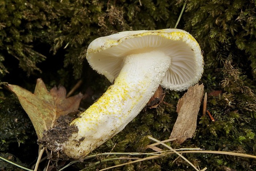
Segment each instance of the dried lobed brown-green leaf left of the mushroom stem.
[{"label": "dried lobed brown-green leaf left of the mushroom stem", "polygon": [[29,115],[38,139],[42,137],[44,130],[51,128],[56,119],[74,110],[78,110],[81,93],[66,98],[66,90],[63,86],[55,86],[50,91],[45,87],[42,79],[37,79],[34,94],[26,89],[8,84],[7,86],[18,96],[18,99]]}]

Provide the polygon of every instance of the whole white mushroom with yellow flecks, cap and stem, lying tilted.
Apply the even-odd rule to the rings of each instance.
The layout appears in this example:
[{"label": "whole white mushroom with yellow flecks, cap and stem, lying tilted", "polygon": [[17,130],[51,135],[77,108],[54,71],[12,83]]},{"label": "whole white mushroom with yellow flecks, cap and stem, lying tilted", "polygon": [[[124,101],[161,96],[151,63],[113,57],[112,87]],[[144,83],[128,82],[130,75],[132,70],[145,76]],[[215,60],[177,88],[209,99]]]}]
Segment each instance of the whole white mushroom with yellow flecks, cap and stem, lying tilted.
[{"label": "whole white mushroom with yellow flecks, cap and stem, lying tilted", "polygon": [[178,29],[124,31],[90,43],[90,66],[114,80],[89,109],[74,119],[78,131],[56,142],[61,153],[82,159],[135,118],[159,84],[182,91],[196,84],[203,73],[199,44]]}]

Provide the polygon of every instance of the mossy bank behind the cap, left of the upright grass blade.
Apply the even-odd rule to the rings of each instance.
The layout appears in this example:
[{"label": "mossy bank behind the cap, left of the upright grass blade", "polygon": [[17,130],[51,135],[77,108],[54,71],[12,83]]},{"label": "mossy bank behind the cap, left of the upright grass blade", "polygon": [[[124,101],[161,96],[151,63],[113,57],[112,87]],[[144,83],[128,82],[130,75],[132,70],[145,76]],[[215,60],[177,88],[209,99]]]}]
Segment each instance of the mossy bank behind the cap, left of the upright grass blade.
[{"label": "mossy bank behind the cap, left of the upright grass blade", "polygon": [[4,63],[7,58],[16,58],[28,75],[41,72],[37,64],[46,59],[41,48],[47,44],[54,54],[65,49],[64,67],[71,65],[77,79],[89,42],[118,31],[173,27],[178,12],[174,4],[174,0],[146,0],[143,5],[129,0],[1,1],[0,73],[13,67]]}]

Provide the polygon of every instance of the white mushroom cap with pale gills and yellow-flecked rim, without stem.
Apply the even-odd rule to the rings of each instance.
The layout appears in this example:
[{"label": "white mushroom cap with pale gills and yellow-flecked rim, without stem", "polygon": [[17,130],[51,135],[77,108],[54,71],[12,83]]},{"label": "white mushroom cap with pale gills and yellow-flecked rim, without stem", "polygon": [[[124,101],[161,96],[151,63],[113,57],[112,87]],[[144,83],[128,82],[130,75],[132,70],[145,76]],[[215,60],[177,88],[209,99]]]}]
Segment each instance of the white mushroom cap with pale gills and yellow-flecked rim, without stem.
[{"label": "white mushroom cap with pale gills and yellow-flecked rim, without stem", "polygon": [[124,31],[100,37],[89,45],[86,58],[93,69],[112,82],[124,57],[151,50],[162,51],[171,58],[161,82],[163,87],[181,91],[201,78],[204,62],[200,46],[192,35],[179,29]]}]

